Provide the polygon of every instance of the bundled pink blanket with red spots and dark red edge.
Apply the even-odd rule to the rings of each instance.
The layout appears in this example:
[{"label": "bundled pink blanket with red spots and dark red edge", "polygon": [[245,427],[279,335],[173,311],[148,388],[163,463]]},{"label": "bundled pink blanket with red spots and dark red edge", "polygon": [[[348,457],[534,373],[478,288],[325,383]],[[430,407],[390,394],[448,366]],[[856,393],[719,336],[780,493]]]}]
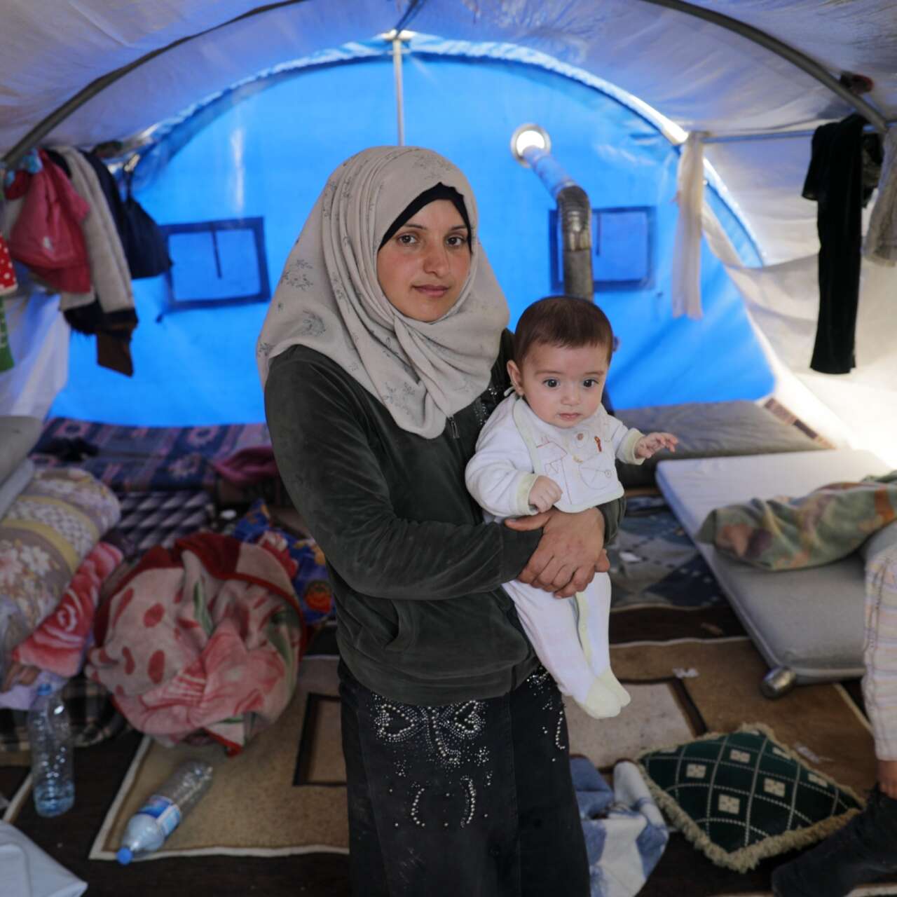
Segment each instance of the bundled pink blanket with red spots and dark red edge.
[{"label": "bundled pink blanket with red spots and dark red edge", "polygon": [[296,684],[305,627],[288,561],[207,532],[152,548],[100,605],[86,675],[161,744],[205,733],[239,753]]}]

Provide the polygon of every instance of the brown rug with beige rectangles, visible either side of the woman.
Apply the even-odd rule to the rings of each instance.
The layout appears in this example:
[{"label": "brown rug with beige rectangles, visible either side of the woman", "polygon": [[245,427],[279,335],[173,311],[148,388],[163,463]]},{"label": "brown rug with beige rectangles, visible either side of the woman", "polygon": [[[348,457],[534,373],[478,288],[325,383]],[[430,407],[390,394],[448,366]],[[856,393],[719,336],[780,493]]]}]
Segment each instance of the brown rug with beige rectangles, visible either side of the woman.
[{"label": "brown rug with beige rectangles, visible either side of the woman", "polygon": [[[872,737],[847,692],[814,685],[766,701],[755,687],[762,658],[745,637],[619,646],[612,649],[612,663],[632,695],[619,718],[597,721],[568,706],[570,750],[599,769],[610,772],[618,760],[706,731],[761,721],[843,784],[864,791],[875,779]],[[213,789],[153,858],[345,850],[335,662],[307,658],[304,664],[305,688],[277,725],[235,759],[225,759],[214,746],[171,750],[144,739],[91,858],[114,859],[130,814],[193,756],[213,763]]]}]

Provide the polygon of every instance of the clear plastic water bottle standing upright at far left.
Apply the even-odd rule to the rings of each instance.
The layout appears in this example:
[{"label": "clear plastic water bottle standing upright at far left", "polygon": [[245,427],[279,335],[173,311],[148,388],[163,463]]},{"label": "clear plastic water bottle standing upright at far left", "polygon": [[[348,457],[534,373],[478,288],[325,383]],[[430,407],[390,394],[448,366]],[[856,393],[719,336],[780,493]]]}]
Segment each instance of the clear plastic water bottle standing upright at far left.
[{"label": "clear plastic water bottle standing upright at far left", "polygon": [[60,692],[43,683],[28,711],[34,808],[58,816],[74,804],[74,745],[68,711]]}]

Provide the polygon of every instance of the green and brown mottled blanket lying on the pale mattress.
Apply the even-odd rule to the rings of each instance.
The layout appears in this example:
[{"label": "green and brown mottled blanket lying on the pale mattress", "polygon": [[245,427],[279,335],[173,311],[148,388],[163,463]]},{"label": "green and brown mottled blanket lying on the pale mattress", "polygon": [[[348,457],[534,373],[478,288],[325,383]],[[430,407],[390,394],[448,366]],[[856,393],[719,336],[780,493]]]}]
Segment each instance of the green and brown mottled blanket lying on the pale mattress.
[{"label": "green and brown mottled blanket lying on the pale mattress", "polygon": [[895,518],[897,471],[712,510],[697,538],[755,567],[797,570],[846,557]]}]

